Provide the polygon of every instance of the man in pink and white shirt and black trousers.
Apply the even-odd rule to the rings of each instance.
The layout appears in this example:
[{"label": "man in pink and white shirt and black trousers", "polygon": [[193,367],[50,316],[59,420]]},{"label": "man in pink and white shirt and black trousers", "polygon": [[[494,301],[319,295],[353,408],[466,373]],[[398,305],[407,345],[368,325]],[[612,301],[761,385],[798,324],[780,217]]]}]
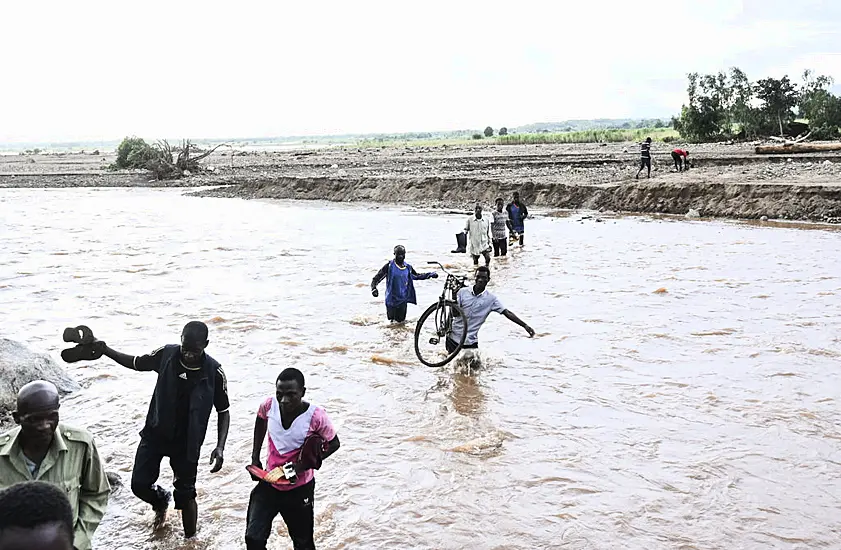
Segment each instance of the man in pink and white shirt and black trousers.
[{"label": "man in pink and white shirt and black trousers", "polygon": [[266,399],[254,421],[251,464],[262,468],[260,454],[269,435],[266,471],[292,463],[297,479],[289,483],[259,481],[248,501],[245,544],[248,550],[265,550],[272,522],[283,517],[295,550],[315,550],[313,540],[313,468],[339,449],[339,437],[327,412],[303,401],[306,387],[298,369],[284,369],[275,383],[275,396]]}]

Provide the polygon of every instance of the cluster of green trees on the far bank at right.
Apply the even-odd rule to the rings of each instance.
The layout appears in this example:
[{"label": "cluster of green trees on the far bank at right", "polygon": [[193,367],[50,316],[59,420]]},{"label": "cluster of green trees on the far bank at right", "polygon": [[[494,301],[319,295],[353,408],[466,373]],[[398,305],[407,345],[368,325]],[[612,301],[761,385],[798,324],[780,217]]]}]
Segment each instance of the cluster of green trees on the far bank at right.
[{"label": "cluster of green trees on the far bank at right", "polygon": [[841,137],[841,97],[830,92],[828,76],[803,73],[801,83],[788,76],[756,82],[734,67],[729,73],[688,75],[689,103],[674,128],[695,142],[754,139],[759,136],[798,133],[797,119],[805,119],[816,139]]}]

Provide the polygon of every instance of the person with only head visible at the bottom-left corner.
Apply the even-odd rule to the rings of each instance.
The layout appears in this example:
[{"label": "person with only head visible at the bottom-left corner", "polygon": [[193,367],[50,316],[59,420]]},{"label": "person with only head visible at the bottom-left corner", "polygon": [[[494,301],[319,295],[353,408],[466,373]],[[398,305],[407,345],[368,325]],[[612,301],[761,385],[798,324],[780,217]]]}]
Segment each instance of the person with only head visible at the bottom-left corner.
[{"label": "person with only head visible at the bottom-left corner", "polygon": [[2,550],[79,550],[73,533],[73,509],[63,489],[26,481],[0,491]]}]

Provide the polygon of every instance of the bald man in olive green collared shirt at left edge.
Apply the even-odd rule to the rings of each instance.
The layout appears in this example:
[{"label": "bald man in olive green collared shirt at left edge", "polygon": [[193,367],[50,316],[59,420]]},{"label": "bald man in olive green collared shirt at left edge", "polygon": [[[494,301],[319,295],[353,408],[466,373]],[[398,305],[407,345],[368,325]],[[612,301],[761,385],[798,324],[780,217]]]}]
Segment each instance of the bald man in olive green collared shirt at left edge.
[{"label": "bald man in olive green collared shirt at left edge", "polygon": [[40,480],[62,489],[73,508],[73,546],[90,550],[111,488],[93,437],[58,421],[58,390],[36,380],[18,392],[20,427],[0,436],[0,489]]}]

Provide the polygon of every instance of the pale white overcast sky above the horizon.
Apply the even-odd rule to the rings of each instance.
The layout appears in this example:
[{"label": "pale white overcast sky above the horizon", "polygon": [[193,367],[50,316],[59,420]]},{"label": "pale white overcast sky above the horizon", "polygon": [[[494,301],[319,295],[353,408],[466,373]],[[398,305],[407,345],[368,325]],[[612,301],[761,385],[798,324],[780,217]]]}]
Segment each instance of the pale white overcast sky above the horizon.
[{"label": "pale white overcast sky above the horizon", "polygon": [[839,29],[841,0],[4,2],[0,142],[668,117],[692,71],[841,82]]}]

